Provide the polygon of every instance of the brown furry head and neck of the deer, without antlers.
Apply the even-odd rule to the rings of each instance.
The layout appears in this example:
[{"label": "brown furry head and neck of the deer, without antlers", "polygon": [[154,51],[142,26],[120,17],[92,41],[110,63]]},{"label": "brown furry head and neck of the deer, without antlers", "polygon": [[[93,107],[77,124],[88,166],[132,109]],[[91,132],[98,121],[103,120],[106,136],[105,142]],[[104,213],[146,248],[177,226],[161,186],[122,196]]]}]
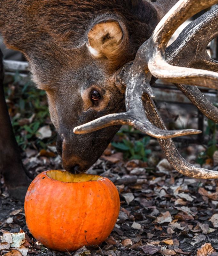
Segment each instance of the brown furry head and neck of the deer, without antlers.
[{"label": "brown furry head and neck of the deer, without antlers", "polygon": [[[125,110],[116,72],[134,59],[158,21],[156,8],[144,0],[0,1],[4,42],[23,52],[38,88],[48,95],[57,149],[67,170],[85,171],[119,129],[73,133],[77,125]],[[92,90],[101,100],[90,100]]]}]

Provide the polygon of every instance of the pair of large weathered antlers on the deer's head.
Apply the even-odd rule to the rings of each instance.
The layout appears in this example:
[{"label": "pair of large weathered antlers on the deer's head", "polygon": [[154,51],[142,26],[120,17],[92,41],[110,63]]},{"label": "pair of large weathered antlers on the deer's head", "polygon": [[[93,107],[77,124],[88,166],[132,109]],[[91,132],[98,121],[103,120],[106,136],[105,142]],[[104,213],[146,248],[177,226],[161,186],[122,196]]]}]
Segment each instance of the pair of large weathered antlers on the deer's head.
[{"label": "pair of large weathered antlers on the deer's head", "polygon": [[121,80],[127,85],[127,112],[103,116],[75,127],[74,132],[87,133],[110,125],[129,124],[158,138],[168,162],[178,172],[194,178],[218,178],[218,172],[191,165],[179,154],[170,138],[196,134],[200,131],[167,131],[152,100],[154,96],[150,86],[152,75],[176,83],[204,115],[217,122],[217,108],[194,86],[217,89],[217,73],[214,72],[217,69],[217,62],[210,59],[206,53],[207,44],[217,35],[217,7],[187,26],[166,50],[166,45],[176,28],[184,20],[212,4],[216,4],[216,1],[180,0],[160,21],[152,36],[139,48],[134,62],[121,70]]}]

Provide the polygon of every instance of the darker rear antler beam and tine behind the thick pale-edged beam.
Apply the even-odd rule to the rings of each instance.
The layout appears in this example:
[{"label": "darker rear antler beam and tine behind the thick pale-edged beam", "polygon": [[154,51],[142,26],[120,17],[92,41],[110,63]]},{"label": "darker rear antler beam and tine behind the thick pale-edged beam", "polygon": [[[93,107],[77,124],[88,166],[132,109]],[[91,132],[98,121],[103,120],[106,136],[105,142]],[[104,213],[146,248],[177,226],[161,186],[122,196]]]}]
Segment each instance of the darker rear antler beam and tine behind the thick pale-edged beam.
[{"label": "darker rear antler beam and tine behind the thick pale-edged beam", "polygon": [[[211,59],[206,52],[208,43],[217,36],[216,29],[218,20],[218,6],[192,21],[177,37],[177,39],[166,48],[166,60],[171,65],[195,67],[217,71],[217,61]],[[188,34],[188,37],[187,37]],[[200,38],[201,45],[199,45]],[[183,56],[189,56],[184,58]],[[193,85],[175,84],[188,99],[209,119],[218,122],[218,108],[209,102],[198,87]]]}]

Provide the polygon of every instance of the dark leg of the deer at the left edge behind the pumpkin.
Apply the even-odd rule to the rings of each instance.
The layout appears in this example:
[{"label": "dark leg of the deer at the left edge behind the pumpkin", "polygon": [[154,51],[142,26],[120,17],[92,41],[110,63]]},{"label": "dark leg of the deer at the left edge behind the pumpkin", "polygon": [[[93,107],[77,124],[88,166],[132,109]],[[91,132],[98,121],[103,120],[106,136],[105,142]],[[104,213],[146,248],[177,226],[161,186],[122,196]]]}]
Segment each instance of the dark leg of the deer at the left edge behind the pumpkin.
[{"label": "dark leg of the deer at the left edge behind the pumpkin", "polygon": [[4,97],[3,78],[2,52],[0,50],[0,173],[4,177],[10,195],[23,201],[30,180],[25,173],[13,133]]}]

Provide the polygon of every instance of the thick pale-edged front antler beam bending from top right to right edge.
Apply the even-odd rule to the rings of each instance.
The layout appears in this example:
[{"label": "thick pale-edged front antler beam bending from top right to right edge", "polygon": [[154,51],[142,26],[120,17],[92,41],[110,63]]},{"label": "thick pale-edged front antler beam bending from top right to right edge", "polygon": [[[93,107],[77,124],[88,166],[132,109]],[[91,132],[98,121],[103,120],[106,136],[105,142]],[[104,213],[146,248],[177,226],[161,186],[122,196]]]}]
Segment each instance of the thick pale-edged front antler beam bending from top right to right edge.
[{"label": "thick pale-edged front antler beam bending from top right to right edge", "polygon": [[199,85],[217,89],[218,76],[216,72],[172,66],[164,58],[167,42],[176,28],[196,12],[216,4],[216,2],[216,0],[201,1],[200,3],[195,0],[180,0],[163,17],[149,40],[141,46],[144,48],[143,56],[145,56],[148,68],[153,76],[172,83]]}]

